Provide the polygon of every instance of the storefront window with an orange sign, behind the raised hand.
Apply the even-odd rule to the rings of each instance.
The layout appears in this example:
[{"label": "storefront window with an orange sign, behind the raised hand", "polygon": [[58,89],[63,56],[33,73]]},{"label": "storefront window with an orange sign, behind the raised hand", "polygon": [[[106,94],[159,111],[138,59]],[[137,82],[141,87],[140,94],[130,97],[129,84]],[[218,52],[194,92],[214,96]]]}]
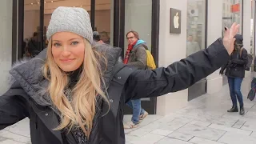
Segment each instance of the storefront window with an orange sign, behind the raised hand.
[{"label": "storefront window with an orange sign, behind the raised hand", "polygon": [[[242,0],[222,0],[222,27],[230,27],[234,22],[242,27]],[[223,36],[222,30],[222,36]],[[242,29],[239,29],[242,34]]]}]

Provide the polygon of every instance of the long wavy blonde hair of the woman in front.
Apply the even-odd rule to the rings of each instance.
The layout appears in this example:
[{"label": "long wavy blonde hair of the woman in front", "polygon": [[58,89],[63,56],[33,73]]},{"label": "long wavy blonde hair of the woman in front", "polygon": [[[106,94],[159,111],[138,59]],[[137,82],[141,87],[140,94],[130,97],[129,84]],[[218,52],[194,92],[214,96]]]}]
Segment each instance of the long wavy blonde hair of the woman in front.
[{"label": "long wavy blonde hair of the woman in front", "polygon": [[66,127],[71,130],[72,127],[78,125],[82,128],[86,136],[89,137],[96,111],[96,97],[100,96],[108,102],[102,90],[102,84],[105,84],[102,78],[102,66],[99,60],[103,58],[105,60],[104,64],[106,64],[106,58],[102,57],[95,48],[92,48],[86,39],[84,43],[85,58],[82,64],[82,73],[79,76],[78,83],[72,90],[71,103],[64,94],[64,90],[69,83],[69,77],[54,62],[51,39],[48,44],[46,64],[43,66],[43,75],[50,81],[47,92],[50,94],[54,106],[62,114],[62,121],[55,130],[62,130]]}]

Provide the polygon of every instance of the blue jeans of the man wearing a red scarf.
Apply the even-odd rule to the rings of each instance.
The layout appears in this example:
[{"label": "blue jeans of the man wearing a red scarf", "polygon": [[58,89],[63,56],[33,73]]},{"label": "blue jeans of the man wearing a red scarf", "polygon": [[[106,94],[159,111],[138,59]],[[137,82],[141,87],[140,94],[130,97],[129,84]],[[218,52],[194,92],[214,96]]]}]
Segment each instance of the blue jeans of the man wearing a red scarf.
[{"label": "blue jeans of the man wearing a red scarf", "polygon": [[131,118],[131,121],[134,122],[134,124],[137,124],[139,122],[139,116],[145,112],[145,110],[142,109],[141,100],[130,100],[126,105],[133,109],[133,117]]}]

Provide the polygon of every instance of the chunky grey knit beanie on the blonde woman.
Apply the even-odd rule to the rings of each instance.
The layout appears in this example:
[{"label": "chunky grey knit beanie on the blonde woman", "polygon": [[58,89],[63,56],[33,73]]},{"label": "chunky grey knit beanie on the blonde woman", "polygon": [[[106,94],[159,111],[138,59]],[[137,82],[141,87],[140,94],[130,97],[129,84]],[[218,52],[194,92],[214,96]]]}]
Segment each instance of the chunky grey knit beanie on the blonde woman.
[{"label": "chunky grey knit beanie on the blonde woman", "polygon": [[93,42],[90,16],[83,8],[60,6],[54,10],[46,37],[49,40],[53,34],[63,31],[78,34],[90,43]]}]

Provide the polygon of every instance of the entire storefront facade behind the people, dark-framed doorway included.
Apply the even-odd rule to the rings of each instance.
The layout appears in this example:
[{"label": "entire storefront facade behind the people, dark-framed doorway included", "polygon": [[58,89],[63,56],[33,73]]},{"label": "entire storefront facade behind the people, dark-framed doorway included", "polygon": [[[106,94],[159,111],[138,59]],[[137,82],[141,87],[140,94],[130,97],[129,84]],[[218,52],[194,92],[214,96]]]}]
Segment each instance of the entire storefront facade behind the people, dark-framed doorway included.
[{"label": "entire storefront facade behind the people, dark-framed doorway included", "polygon": [[[126,51],[126,33],[136,30],[147,42],[158,66],[168,66],[189,54],[210,46],[222,37],[224,26],[240,23],[239,33],[244,36],[248,51],[254,53],[254,34],[250,22],[254,18],[246,0],[2,0],[0,17],[2,36],[0,78],[8,81],[8,70],[13,62],[22,58],[22,43],[38,33],[38,49],[46,47],[45,33],[50,15],[58,6],[83,7],[90,13],[94,30],[106,38],[110,45]],[[170,8],[181,10],[180,34],[170,33]],[[252,38],[253,37],[253,38]],[[4,70],[3,70],[4,69]],[[213,94],[222,89],[225,78],[217,70],[186,90],[158,98],[143,98],[142,107],[150,114],[169,114],[186,106],[202,94]],[[0,86],[2,94],[8,85]],[[126,114],[131,110],[126,107]]]}]

